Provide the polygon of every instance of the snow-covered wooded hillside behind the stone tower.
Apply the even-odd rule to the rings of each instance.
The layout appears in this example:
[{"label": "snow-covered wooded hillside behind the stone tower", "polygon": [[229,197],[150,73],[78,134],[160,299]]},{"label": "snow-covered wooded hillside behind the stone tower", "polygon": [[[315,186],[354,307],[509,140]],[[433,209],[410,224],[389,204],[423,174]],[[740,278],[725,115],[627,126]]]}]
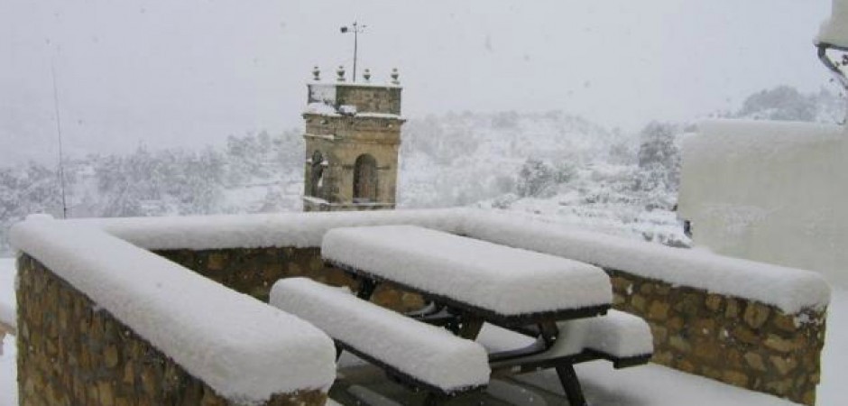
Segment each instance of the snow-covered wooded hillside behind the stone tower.
[{"label": "snow-covered wooded hillside behind the stone tower", "polygon": [[[719,116],[830,121],[842,105],[822,91],[787,87],[751,95]],[[678,143],[692,125],[651,123],[628,134],[560,111],[411,118],[403,127],[398,206],[506,208],[546,221],[687,245],[677,220]],[[127,217],[300,210],[300,129],[231,136],[226,146],[139,148],[71,156],[69,217]],[[56,168],[0,167],[0,255],[8,227],[27,214],[61,217]]]}]

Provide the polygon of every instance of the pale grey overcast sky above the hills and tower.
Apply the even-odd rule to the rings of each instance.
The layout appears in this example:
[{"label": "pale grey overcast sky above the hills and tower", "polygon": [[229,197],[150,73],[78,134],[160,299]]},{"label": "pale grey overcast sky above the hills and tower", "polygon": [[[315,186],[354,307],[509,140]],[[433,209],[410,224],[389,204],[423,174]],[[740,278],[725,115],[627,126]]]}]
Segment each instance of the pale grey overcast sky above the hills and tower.
[{"label": "pale grey overcast sky above the hills and tower", "polygon": [[[548,111],[637,131],[827,86],[829,0],[0,0],[0,159],[300,126],[313,65],[401,71],[403,112]],[[348,73],[349,74],[349,73]],[[14,151],[14,154],[9,153]]]}]

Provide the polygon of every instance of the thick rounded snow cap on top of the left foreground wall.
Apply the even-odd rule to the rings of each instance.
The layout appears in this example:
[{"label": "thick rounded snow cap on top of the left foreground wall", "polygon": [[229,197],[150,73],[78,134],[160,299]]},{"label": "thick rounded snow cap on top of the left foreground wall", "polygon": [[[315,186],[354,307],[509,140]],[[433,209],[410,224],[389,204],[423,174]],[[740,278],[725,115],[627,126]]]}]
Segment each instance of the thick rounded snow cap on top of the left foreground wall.
[{"label": "thick rounded snow cap on top of the left foreground wall", "polygon": [[336,378],[318,328],[101,230],[29,219],[12,243],[227,399],[327,390]]}]

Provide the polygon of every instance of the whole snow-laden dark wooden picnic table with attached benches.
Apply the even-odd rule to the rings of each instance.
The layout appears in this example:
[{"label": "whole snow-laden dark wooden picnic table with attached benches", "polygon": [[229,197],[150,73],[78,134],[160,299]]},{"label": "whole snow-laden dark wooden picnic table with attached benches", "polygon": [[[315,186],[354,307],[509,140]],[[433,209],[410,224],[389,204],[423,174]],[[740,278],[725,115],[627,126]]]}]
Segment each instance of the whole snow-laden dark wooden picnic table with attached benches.
[{"label": "whole snow-laden dark wooden picnic table with attached benches", "polygon": [[[644,364],[653,351],[644,320],[610,309],[609,277],[593,265],[418,226],[336,228],[325,235],[321,255],[360,281],[356,297],[283,280],[272,304],[315,323],[340,349],[434,393],[431,403],[479,389],[489,374],[554,368],[569,403],[582,406],[574,364]],[[429,306],[406,316],[376,308],[366,300],[383,282],[418,292]],[[484,323],[535,342],[486,355],[474,341]],[[429,364],[410,367],[425,359]],[[439,381],[439,374],[449,379]]]}]

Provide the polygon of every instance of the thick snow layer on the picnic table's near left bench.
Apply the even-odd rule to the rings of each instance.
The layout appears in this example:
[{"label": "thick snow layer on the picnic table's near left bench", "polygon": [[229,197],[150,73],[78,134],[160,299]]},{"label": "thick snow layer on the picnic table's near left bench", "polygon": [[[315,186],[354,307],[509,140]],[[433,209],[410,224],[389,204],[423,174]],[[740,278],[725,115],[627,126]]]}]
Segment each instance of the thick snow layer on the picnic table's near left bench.
[{"label": "thick snow layer on the picnic table's near left bench", "polygon": [[489,382],[483,346],[360,300],[348,291],[289,278],[274,283],[270,303],[313,323],[356,355],[417,380],[430,391],[464,392]]}]

